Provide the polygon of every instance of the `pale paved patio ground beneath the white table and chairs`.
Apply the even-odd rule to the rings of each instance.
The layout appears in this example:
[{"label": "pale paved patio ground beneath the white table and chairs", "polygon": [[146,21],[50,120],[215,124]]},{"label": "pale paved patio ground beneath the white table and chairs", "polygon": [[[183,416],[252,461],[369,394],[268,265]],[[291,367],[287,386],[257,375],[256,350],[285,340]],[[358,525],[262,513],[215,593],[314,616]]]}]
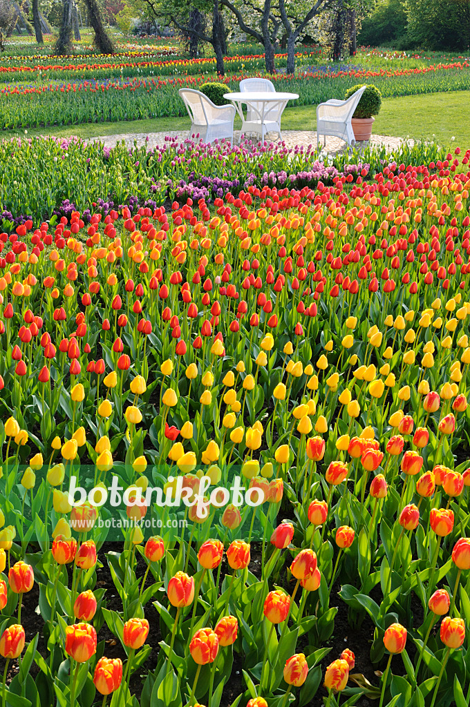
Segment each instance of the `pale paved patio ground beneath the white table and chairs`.
[{"label": "pale paved patio ground beneath the white table and chairs", "polygon": [[[159,145],[164,145],[165,136],[177,136],[180,139],[185,139],[189,136],[189,131],[182,130],[180,132],[168,131],[166,133],[156,132],[156,133],[122,133],[119,135],[105,135],[103,137],[93,138],[92,142],[102,142],[106,147],[115,147],[117,143],[125,141],[125,144],[129,147],[134,145],[134,141],[137,141],[137,146],[142,146],[146,144],[149,148],[154,148]],[[310,130],[285,130],[282,133],[285,144],[288,147],[295,147],[303,145],[308,147],[309,145],[316,146],[316,132]],[[277,134],[272,134],[268,136],[273,139],[274,142],[277,141]],[[239,132],[235,131],[235,139],[238,141]],[[256,140],[256,136],[252,137],[253,141]],[[372,135],[370,139],[371,145],[374,146],[385,146],[388,151],[398,148],[403,143],[403,139],[399,137],[390,137],[386,135]],[[320,143],[322,145],[322,141]],[[366,142],[357,143],[358,148],[362,148],[367,145]],[[327,136],[326,138],[326,152],[330,154],[335,154],[345,150],[345,143],[336,137]]]}]

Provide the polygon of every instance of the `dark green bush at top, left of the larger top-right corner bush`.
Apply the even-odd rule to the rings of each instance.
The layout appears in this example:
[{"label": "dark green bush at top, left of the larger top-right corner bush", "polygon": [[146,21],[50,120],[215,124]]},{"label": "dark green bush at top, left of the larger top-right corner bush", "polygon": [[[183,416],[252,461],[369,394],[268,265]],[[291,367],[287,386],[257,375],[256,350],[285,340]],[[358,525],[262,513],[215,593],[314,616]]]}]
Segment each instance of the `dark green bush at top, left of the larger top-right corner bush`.
[{"label": "dark green bush at top, left of the larger top-right corner bush", "polygon": [[372,14],[362,20],[357,43],[366,47],[391,45],[401,48],[406,43],[406,9],[401,0],[379,0]]}]

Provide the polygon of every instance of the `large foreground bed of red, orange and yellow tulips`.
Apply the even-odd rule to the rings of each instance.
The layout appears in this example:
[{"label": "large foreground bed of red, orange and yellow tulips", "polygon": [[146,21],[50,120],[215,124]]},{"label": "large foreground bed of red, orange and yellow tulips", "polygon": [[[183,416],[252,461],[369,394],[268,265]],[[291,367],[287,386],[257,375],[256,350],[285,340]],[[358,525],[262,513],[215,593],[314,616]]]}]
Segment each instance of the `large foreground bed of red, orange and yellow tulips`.
[{"label": "large foreground bed of red, orange and yellow tulips", "polygon": [[466,703],[469,158],[4,223],[6,703]]}]

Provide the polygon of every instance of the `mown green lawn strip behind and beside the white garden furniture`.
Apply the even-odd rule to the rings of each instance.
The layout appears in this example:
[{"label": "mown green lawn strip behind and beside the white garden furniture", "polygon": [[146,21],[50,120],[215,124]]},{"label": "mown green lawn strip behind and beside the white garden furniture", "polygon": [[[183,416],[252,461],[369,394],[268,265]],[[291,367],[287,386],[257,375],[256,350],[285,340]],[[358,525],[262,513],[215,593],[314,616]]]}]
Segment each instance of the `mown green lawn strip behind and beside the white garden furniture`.
[{"label": "mown green lawn strip behind and beside the white garden furniture", "polygon": [[[415,139],[435,139],[442,145],[455,138],[456,146],[470,147],[470,124],[467,117],[470,91],[453,93],[427,93],[425,95],[386,98],[374,122],[374,133],[410,136]],[[237,117],[238,120],[238,117]],[[132,122],[93,123],[66,127],[28,130],[29,136],[51,134],[57,136],[78,135],[90,138],[130,132],[166,132],[188,129],[189,120],[180,118],[156,118]],[[235,124],[239,127],[239,122]],[[315,107],[287,108],[282,116],[285,130],[314,130],[316,128]],[[22,131],[4,131],[4,136],[23,135]]]}]

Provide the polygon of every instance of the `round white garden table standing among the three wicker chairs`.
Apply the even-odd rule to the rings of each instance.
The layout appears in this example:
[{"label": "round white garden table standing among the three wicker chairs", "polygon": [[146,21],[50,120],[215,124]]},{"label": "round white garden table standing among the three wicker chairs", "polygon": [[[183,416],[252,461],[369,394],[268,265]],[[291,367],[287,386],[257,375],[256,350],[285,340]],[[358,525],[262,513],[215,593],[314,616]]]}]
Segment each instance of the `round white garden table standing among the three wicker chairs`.
[{"label": "round white garden table standing among the three wicker chairs", "polygon": [[[281,134],[281,115],[290,100],[299,98],[298,93],[277,93],[277,91],[243,91],[224,93],[224,98],[234,104],[241,117],[241,132],[256,132],[261,140],[267,132]],[[243,115],[243,103],[246,104],[246,117]]]}]

